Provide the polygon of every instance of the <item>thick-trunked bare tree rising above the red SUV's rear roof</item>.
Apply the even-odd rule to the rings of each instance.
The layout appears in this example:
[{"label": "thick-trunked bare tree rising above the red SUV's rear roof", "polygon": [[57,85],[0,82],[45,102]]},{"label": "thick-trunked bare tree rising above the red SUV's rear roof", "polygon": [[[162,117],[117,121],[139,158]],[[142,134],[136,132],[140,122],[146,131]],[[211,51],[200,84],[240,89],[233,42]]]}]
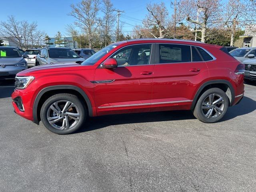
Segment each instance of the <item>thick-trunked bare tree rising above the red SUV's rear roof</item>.
[{"label": "thick-trunked bare tree rising above the red SUV's rear roof", "polygon": [[205,42],[206,30],[214,26],[222,19],[220,0],[181,0],[179,4],[180,15],[184,16],[190,23],[199,26],[202,36],[201,41]]}]

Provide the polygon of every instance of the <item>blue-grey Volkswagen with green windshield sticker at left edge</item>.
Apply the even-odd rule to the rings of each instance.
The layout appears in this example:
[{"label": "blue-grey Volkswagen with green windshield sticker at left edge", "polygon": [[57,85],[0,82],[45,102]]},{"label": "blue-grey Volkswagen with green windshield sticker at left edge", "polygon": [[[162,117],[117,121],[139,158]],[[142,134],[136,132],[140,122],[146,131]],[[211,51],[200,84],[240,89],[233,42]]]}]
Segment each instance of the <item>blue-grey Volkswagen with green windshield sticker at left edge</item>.
[{"label": "blue-grey Volkswagen with green windshield sticker at left edge", "polygon": [[28,55],[21,55],[18,48],[0,47],[0,79],[14,79],[18,72],[28,68],[24,58]]}]

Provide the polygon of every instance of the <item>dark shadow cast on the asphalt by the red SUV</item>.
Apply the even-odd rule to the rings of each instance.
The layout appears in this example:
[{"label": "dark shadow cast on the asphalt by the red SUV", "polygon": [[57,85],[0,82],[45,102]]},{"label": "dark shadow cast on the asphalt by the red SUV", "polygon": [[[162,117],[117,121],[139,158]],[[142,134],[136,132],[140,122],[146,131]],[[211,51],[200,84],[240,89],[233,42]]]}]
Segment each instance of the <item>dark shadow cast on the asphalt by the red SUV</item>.
[{"label": "dark shadow cast on the asphalt by the red SUV", "polygon": [[[220,122],[233,119],[237,116],[248,114],[256,110],[256,101],[251,98],[244,97],[241,102],[235,106],[229,107],[225,116]],[[88,117],[84,127],[76,133],[88,132],[108,126],[144,122],[163,122],[173,120],[188,120],[195,119],[190,110],[180,111],[163,111],[163,112],[148,112],[134,114],[118,114],[106,115],[98,117]]]}]

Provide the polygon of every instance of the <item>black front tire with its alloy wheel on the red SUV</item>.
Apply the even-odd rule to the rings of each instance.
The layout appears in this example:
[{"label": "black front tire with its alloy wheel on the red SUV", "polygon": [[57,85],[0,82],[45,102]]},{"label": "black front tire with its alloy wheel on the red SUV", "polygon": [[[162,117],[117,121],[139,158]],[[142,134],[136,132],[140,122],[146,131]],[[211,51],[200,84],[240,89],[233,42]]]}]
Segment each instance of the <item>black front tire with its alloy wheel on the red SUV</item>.
[{"label": "black front tire with its alloy wheel on the red SUV", "polygon": [[[72,103],[73,105],[68,105],[68,102]],[[62,113],[61,110],[64,110],[65,104],[67,105],[67,108],[69,108],[68,106],[70,106],[70,109]],[[60,113],[57,113],[56,110],[52,110],[52,107],[54,106],[55,109],[59,109],[58,111]],[[68,113],[72,114],[70,115],[72,117],[70,117]],[[73,114],[79,114],[79,117],[75,117],[73,116]],[[86,120],[85,104],[84,102],[81,102],[79,98],[75,95],[66,93],[56,94],[51,96],[44,102],[40,111],[40,117],[44,126],[48,128],[48,130],[50,130],[51,132],[61,135],[71,134],[80,129]],[[52,120],[60,120],[52,123],[51,125],[48,121],[48,118],[52,118],[50,120],[51,123]]]}]

